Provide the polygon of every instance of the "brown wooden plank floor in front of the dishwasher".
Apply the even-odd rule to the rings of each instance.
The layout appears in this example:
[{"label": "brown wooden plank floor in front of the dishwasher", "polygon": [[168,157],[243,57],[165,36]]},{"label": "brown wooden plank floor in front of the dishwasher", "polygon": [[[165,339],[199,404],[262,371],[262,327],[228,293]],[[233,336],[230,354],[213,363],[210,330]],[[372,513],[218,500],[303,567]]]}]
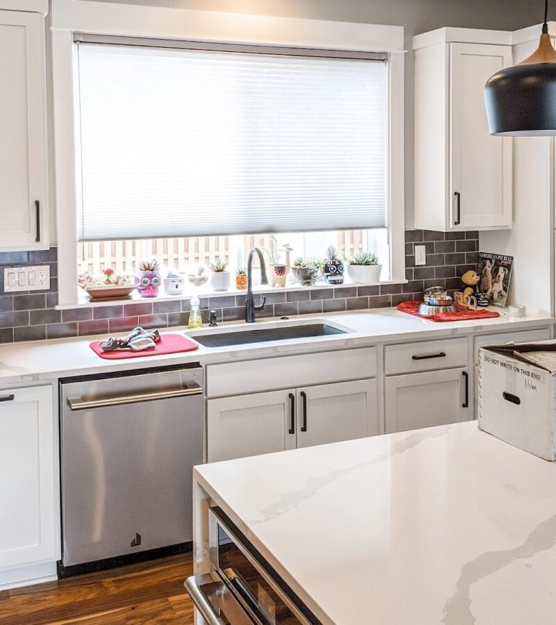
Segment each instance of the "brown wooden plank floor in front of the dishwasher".
[{"label": "brown wooden plank floor in front of the dishwasher", "polygon": [[0,591],[1,625],[193,625],[191,554]]}]

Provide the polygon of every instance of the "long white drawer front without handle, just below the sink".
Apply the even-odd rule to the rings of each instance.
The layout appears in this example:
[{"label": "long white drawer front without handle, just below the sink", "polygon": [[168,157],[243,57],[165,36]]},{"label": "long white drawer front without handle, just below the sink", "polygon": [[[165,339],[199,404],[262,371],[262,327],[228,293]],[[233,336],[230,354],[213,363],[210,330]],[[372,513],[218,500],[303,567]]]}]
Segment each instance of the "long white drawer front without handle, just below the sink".
[{"label": "long white drawer front without handle, just below the sink", "polygon": [[342,349],[206,367],[206,396],[225,397],[279,388],[373,378],[377,349]]}]

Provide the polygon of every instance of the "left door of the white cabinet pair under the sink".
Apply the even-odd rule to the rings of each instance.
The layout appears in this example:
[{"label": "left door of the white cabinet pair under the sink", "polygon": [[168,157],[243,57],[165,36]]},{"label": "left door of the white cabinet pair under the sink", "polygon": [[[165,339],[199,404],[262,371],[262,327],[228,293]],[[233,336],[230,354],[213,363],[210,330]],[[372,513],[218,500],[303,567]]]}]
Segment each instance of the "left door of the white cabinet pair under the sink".
[{"label": "left door of the white cabinet pair under the sink", "polygon": [[207,462],[295,449],[295,389],[209,399]]}]

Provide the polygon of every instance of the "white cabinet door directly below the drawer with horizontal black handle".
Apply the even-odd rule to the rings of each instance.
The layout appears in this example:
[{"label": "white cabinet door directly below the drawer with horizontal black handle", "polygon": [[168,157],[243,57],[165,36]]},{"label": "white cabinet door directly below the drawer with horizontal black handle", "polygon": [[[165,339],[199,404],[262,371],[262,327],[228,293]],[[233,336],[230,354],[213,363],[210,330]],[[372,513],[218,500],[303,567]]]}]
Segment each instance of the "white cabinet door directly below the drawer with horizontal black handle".
[{"label": "white cabinet door directly below the drawer with horizontal black handle", "polygon": [[386,433],[473,419],[471,376],[468,369],[444,369],[387,377]]}]

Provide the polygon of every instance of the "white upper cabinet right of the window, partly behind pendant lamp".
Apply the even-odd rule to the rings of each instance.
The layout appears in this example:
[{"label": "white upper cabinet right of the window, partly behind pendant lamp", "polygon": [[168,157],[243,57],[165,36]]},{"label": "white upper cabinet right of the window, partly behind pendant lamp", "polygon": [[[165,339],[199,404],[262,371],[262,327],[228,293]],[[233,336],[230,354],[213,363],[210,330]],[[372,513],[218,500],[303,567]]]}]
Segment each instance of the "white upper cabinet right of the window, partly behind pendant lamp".
[{"label": "white upper cabinet right of the window, partly behind pendant lamp", "polygon": [[491,137],[484,84],[512,65],[511,33],[440,28],[414,37],[415,227],[512,227],[512,139]]}]

